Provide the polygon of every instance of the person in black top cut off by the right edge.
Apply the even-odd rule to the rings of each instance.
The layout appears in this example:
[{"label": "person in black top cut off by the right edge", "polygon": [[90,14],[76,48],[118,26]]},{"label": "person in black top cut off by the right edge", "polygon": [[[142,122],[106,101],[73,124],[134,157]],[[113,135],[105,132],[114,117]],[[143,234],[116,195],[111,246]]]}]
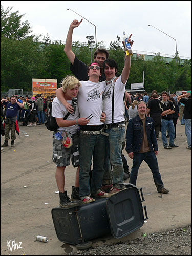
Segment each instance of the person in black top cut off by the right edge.
[{"label": "person in black top cut off by the right edge", "polygon": [[187,136],[187,150],[191,150],[191,91],[177,97],[181,103],[185,104],[184,120],[185,120],[185,135]]}]

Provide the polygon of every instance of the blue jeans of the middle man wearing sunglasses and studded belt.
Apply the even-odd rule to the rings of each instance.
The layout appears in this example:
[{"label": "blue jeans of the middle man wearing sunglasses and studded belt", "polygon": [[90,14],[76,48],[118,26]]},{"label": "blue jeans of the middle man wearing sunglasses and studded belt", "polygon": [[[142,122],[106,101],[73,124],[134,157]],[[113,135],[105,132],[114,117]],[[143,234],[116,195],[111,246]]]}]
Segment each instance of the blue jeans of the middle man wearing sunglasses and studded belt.
[{"label": "blue jeans of the middle man wearing sunglasses and studded belt", "polygon": [[[97,194],[102,185],[105,136],[80,134],[79,136],[79,196]],[[93,157],[93,170],[90,187],[90,169]]]}]

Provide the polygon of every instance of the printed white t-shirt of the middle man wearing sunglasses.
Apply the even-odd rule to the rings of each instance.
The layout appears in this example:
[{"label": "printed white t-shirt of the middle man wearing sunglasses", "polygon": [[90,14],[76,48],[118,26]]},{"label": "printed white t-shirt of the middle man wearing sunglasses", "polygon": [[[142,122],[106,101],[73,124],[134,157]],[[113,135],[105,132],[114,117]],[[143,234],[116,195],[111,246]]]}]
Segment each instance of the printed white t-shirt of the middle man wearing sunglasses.
[{"label": "printed white t-shirt of the middle man wearing sunglasses", "polygon": [[81,118],[87,118],[91,114],[93,117],[87,125],[101,125],[100,121],[103,100],[102,94],[106,86],[104,82],[91,82],[91,81],[80,81],[81,87],[77,95],[77,104],[79,107],[79,113]]}]

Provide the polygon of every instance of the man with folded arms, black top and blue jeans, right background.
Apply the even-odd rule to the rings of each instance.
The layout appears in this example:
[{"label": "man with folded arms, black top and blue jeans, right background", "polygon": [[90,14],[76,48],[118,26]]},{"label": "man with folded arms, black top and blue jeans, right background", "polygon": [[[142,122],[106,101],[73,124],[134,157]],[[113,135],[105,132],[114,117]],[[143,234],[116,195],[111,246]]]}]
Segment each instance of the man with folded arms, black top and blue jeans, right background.
[{"label": "man with folded arms, black top and blue jeans, right background", "polygon": [[[163,142],[163,146],[166,150],[171,150],[173,147],[178,147],[178,145],[174,144],[175,138],[175,129],[173,124],[173,116],[175,113],[175,106],[172,101],[167,100],[168,94],[167,92],[161,93],[162,101],[159,103],[160,111],[161,111],[161,139]],[[167,128],[169,130],[169,146],[166,138]]]}]

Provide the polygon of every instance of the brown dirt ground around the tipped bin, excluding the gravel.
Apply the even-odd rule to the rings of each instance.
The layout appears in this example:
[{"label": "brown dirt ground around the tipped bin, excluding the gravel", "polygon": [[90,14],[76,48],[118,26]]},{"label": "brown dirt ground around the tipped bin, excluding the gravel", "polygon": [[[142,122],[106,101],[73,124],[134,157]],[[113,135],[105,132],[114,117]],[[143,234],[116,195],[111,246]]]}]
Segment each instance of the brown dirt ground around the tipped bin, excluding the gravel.
[{"label": "brown dirt ground around the tipped bin, excluding the gravel", "polygon": [[[1,255],[67,255],[76,248],[58,240],[51,216],[51,209],[59,203],[55,193],[58,188],[52,162],[52,132],[42,125],[19,127],[20,137],[17,135],[15,147],[5,147],[1,152]],[[105,244],[191,224],[191,151],[186,149],[184,128],[179,121],[175,140],[178,148],[164,150],[161,138],[158,141],[159,170],[169,194],[157,193],[151,171],[143,162],[137,187],[143,187],[142,204],[146,205],[149,219],[139,230],[120,240],[109,235],[104,238]],[[3,141],[4,137],[1,144]],[[123,153],[131,170],[132,160]],[[69,196],[75,172],[72,166],[66,169]],[[47,237],[48,243],[34,242],[37,234]],[[103,238],[94,239],[93,246],[103,244],[102,241]]]}]

